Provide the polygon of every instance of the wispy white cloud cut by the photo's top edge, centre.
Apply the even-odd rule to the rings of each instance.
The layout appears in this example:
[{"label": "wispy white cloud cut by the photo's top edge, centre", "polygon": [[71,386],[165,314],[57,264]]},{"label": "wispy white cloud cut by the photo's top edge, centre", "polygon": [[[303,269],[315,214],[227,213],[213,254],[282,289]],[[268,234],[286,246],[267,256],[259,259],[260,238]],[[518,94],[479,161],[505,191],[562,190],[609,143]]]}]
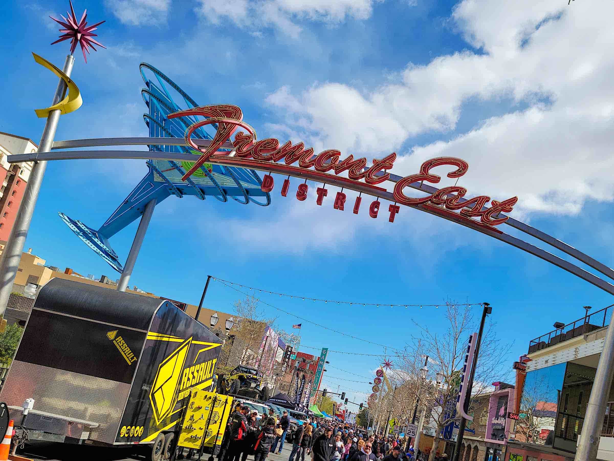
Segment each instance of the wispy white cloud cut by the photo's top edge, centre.
[{"label": "wispy white cloud cut by the photo's top edge, centre", "polygon": [[383,0],[199,0],[196,12],[209,22],[219,24],[230,19],[239,27],[252,29],[262,36],[260,29],[274,27],[297,38],[301,27],[296,20],[308,19],[339,23],[346,18],[368,19],[373,3]]}]

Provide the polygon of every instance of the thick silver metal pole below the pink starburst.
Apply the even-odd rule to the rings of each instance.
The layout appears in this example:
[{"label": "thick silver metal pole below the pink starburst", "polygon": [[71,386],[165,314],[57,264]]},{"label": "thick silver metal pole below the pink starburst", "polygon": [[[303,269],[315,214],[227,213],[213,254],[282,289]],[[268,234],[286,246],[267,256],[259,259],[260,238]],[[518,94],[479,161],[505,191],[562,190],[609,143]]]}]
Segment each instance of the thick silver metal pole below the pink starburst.
[{"label": "thick silver metal pole below the pink starburst", "polygon": [[[71,76],[74,62],[75,58],[72,55],[68,55],[66,61],[64,61],[62,71],[69,77]],[[64,99],[66,88],[66,82],[60,79],[53,95],[52,104],[57,104]],[[51,152],[53,138],[55,138],[55,132],[60,121],[60,114],[60,109],[49,112],[37,153]],[[21,253],[23,253],[23,246],[28,237],[28,230],[30,229],[32,215],[34,214],[38,194],[41,191],[42,179],[45,176],[46,168],[47,162],[34,161],[28,183],[26,183],[26,189],[23,192],[23,199],[21,199],[19,210],[17,211],[15,223],[10,230],[9,240],[6,246],[4,246],[4,251],[2,251],[2,257],[0,258],[0,318],[4,317],[6,306],[9,304],[10,292],[13,290],[15,275],[17,275]],[[6,193],[8,194],[8,191]]]}]

